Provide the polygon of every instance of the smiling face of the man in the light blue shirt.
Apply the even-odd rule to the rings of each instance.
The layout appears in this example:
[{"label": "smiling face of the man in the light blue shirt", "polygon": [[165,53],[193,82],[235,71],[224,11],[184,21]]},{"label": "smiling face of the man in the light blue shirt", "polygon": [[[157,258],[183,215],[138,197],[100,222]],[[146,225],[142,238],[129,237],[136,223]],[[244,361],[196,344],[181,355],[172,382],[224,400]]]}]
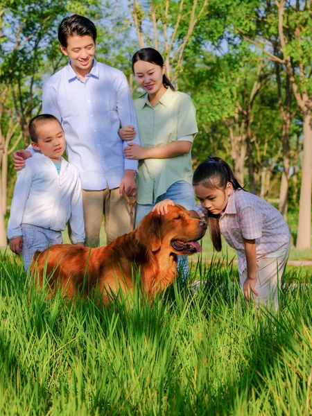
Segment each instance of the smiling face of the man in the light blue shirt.
[{"label": "smiling face of the man in the light blue shirt", "polygon": [[81,76],[86,76],[92,69],[95,55],[95,43],[92,36],[69,36],[67,47],[60,46],[64,55],[71,60],[71,67]]}]

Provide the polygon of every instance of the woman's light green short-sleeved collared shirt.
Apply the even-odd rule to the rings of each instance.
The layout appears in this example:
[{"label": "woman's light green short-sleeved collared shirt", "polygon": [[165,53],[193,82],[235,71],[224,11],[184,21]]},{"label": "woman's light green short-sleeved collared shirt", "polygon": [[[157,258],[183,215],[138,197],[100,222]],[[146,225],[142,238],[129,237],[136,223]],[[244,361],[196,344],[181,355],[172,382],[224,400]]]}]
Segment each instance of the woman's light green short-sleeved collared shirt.
[{"label": "woman's light green short-sleeved collared shirt", "polygon": [[[135,111],[141,146],[151,148],[178,141],[185,136],[195,137],[198,132],[196,110],[191,98],[170,88],[155,107],[150,105],[148,94],[135,100]],[[188,141],[191,139],[188,137]],[[191,184],[193,169],[191,151],[168,159],[139,161],[137,176],[137,202],[152,204],[156,198],[178,180]]]}]

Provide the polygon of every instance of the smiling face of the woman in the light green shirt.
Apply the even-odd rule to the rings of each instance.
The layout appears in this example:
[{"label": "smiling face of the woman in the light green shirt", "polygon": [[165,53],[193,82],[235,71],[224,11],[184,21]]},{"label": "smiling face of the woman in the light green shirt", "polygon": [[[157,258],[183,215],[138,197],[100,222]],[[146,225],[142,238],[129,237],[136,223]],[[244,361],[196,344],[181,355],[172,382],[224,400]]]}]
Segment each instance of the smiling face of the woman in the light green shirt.
[{"label": "smiling face of the woman in the light green shirt", "polygon": [[165,72],[164,66],[159,67],[159,65],[138,60],[135,62],[133,69],[137,83],[149,95],[153,94],[155,96],[158,92],[166,90],[162,83],[162,76]]}]

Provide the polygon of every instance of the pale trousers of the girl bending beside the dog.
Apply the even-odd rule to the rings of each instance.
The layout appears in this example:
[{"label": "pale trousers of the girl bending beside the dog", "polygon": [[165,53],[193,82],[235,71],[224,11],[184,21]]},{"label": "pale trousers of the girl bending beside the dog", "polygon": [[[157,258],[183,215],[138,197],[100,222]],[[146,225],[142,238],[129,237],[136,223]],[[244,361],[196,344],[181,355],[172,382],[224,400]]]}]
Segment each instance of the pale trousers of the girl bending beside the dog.
[{"label": "pale trousers of the girl bending beside the dog", "polygon": [[[268,308],[274,306],[279,309],[279,289],[281,288],[281,276],[283,275],[289,250],[280,257],[264,257],[257,261],[256,291],[259,296],[252,293],[255,302],[264,304]],[[247,270],[239,274],[239,286],[243,291],[243,284],[247,277]]]}]

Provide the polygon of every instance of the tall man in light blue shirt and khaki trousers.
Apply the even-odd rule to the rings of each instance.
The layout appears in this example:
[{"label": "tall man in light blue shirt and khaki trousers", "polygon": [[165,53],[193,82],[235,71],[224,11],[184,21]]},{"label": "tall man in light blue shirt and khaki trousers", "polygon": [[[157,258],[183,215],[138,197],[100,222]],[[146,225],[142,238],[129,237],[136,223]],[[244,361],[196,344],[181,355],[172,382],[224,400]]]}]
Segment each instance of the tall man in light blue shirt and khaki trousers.
[{"label": "tall man in light blue shirt and khaki trousers", "polygon": [[[96,27],[87,17],[62,20],[58,39],[68,56],[66,67],[44,83],[42,112],[62,123],[69,162],[79,171],[83,188],[86,243],[96,247],[103,214],[107,243],[130,231],[128,204],[123,191],[135,196],[137,161],[125,159],[118,131],[137,119],[125,75],[96,62]],[[134,143],[139,144],[137,134]],[[30,151],[29,151],[30,150]],[[14,153],[15,168],[24,166],[31,148]]]}]

